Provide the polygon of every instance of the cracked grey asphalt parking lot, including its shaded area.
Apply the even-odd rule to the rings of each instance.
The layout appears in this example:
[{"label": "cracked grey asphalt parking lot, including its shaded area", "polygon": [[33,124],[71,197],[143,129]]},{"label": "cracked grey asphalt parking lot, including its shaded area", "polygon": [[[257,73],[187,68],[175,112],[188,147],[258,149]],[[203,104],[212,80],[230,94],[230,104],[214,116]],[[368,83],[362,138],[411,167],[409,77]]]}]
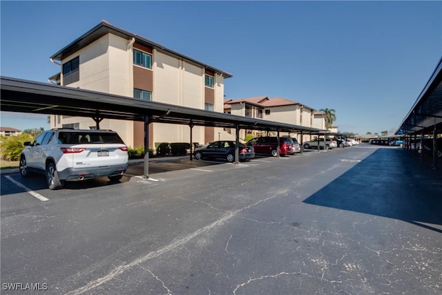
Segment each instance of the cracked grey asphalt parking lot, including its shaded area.
[{"label": "cracked grey asphalt parking lot, including its shaded area", "polygon": [[2,173],[1,294],[441,294],[441,170],[361,145],[60,191]]}]

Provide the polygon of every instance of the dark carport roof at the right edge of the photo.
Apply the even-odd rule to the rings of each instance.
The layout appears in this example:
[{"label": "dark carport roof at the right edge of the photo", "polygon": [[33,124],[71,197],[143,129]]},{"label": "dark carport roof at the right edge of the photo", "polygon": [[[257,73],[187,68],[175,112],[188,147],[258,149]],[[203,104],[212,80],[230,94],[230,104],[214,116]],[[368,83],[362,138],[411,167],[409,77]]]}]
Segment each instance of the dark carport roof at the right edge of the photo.
[{"label": "dark carport roof at the right edge of the photo", "polygon": [[442,130],[442,59],[423,88],[396,135]]}]

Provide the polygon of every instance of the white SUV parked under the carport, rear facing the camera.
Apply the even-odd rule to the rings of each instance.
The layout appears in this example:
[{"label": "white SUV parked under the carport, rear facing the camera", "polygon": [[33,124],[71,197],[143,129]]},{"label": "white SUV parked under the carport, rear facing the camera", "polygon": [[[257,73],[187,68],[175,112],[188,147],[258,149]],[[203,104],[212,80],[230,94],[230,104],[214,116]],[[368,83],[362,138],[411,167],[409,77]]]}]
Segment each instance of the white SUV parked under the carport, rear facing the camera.
[{"label": "white SUV parked under the carport, rear facing the camera", "polygon": [[24,145],[20,174],[46,174],[49,189],[103,176],[116,182],[128,166],[127,146],[115,131],[51,129]]}]

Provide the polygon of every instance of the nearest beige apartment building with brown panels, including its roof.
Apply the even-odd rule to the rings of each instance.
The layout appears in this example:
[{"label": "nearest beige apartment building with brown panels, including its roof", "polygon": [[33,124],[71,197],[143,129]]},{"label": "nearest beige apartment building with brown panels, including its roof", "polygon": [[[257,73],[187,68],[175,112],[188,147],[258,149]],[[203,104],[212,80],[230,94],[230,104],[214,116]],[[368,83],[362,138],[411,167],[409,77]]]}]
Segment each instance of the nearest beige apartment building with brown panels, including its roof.
[{"label": "nearest beige apartment building with brown panels, including its roof", "polygon": [[[134,104],[141,99],[214,112],[224,111],[224,79],[232,77],[106,21],[50,59],[61,68],[49,78],[55,84],[123,95],[134,99]],[[96,122],[88,117],[51,115],[50,126],[95,129]],[[144,122],[105,119],[99,127],[117,131],[128,146],[144,146]],[[195,126],[193,142],[212,142],[221,132],[220,128]],[[149,147],[161,142],[190,142],[189,126],[149,124]]]}]

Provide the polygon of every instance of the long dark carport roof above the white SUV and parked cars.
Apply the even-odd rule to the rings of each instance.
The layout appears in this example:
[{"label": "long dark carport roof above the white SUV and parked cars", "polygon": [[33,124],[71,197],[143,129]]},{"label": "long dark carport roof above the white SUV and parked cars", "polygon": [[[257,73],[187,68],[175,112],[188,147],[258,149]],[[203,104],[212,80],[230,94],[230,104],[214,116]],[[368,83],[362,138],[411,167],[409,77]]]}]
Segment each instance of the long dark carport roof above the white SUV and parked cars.
[{"label": "long dark carport roof above the white SUV and parked cars", "polygon": [[315,133],[321,129],[0,76],[1,111]]}]

